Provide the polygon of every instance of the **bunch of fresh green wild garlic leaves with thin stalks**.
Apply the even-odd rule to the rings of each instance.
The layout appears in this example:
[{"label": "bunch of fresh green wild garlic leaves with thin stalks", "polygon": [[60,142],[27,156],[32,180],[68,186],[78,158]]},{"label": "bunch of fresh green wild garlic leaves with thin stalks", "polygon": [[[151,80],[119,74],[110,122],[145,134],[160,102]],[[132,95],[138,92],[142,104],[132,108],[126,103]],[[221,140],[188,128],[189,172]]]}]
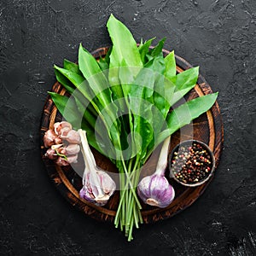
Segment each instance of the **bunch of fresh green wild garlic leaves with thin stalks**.
[{"label": "bunch of fresh green wild garlic leaves with thin stalks", "polygon": [[114,224],[131,241],[133,227],[143,223],[136,191],[139,170],[166,137],[211,108],[217,93],[170,112],[195,86],[198,67],[177,74],[174,52],[163,57],[165,39],[153,49],[153,39],[137,46],[113,15],[107,27],[113,45],[105,58],[96,61],[80,45],[78,65],[64,60],[64,68],[55,66],[56,79],[71,96],[49,94],[63,117],[87,132],[90,146],[117,166],[120,197]]}]

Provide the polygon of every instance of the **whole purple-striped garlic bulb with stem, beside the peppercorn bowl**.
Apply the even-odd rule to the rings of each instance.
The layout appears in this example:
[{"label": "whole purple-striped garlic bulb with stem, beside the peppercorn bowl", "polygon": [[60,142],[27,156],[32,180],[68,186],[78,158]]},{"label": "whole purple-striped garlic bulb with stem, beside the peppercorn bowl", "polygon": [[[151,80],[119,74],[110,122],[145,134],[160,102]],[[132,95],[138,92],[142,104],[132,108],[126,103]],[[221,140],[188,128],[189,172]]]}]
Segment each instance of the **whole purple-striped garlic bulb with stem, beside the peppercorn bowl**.
[{"label": "whole purple-striped garlic bulb with stem, beside the peppercorn bowl", "polygon": [[137,194],[150,206],[165,208],[174,199],[175,191],[165,177],[170,137],[167,137],[160,152],[160,159],[153,175],[143,177],[137,186]]}]

